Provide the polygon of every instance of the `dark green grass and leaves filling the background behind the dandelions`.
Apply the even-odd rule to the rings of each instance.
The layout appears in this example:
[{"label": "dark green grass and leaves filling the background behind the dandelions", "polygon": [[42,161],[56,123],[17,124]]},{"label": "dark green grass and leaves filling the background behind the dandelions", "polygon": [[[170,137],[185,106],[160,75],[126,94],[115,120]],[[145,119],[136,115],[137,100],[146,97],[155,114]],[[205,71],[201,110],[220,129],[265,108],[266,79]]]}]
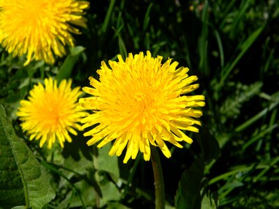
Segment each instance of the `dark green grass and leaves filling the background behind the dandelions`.
[{"label": "dark green grass and leaves filling the background behind the dandelions", "polygon": [[[23,139],[28,148],[15,146],[24,147],[29,167],[43,173],[48,208],[154,208],[151,162],[142,155],[123,164],[122,155],[107,155],[109,146],[86,146],[82,133],[63,149],[39,148],[15,115],[20,100],[45,77],[88,86],[101,61],[150,50],[190,68],[199,77],[195,93],[206,96],[199,133],[187,132],[194,143],[172,147],[169,159],[160,155],[167,207],[279,208],[278,1],[91,1],[86,18],[87,28],[75,36],[78,47],[54,65],[33,61],[24,67],[24,58],[0,48],[6,110],[5,116],[0,108],[0,130],[8,133],[1,134],[1,163],[10,163],[7,138]],[[1,183],[11,178],[2,174]],[[8,193],[0,185],[3,195]]]}]

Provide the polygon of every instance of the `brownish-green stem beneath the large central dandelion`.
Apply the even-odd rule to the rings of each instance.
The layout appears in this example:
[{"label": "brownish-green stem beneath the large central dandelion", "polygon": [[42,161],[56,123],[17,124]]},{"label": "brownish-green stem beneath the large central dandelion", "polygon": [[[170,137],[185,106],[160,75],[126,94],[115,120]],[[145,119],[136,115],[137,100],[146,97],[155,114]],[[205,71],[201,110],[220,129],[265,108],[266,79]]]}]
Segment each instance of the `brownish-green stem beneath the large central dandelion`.
[{"label": "brownish-green stem beneath the large central dandelion", "polygon": [[153,167],[155,185],[156,209],[165,208],[165,187],[160,157],[155,146],[151,146],[151,162]]}]

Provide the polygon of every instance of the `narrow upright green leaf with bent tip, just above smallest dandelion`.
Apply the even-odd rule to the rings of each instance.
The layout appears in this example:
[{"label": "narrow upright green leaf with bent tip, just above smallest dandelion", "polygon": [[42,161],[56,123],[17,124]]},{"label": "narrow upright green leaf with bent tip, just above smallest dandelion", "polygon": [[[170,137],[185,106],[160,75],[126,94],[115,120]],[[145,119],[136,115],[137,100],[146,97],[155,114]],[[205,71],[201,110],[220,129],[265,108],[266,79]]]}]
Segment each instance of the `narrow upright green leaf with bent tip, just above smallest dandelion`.
[{"label": "narrow upright green leaf with bent tip, just above smallest dandelion", "polygon": [[61,82],[63,79],[70,78],[70,74],[74,68],[77,59],[79,58],[80,54],[85,50],[84,47],[77,46],[70,49],[70,54],[67,56],[66,60],[64,61],[63,65],[59,69],[59,72],[56,75],[57,82]]}]

